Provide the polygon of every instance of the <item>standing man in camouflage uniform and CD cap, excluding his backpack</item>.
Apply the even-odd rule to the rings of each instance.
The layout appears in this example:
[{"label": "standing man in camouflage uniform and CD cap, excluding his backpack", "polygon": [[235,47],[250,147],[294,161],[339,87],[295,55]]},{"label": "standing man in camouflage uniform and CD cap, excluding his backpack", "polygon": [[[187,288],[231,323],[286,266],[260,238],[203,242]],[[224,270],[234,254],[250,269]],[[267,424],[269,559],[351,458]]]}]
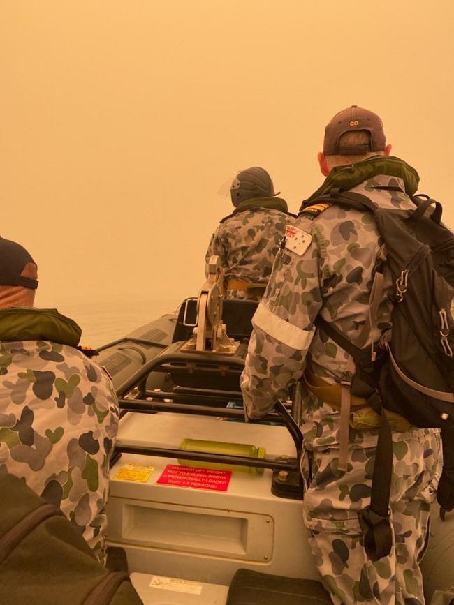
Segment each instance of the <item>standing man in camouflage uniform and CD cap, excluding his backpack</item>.
[{"label": "standing man in camouflage uniform and CD cap, excluding his backpack", "polygon": [[432,488],[441,470],[438,431],[417,430],[394,418],[393,548],[388,557],[368,560],[358,512],[370,500],[379,417],[360,405],[365,400],[352,398],[348,449],[341,463],[339,382],[355,368],[349,354],[316,329],[314,321],[319,314],[351,342],[371,345],[390,322],[392,284],[388,278],[376,332],[365,330],[380,250],[372,215],[336,205],[312,206],[311,199],[342,188],[382,207],[414,207],[407,194],[416,192],[418,174],[389,153],[381,120],[372,112],[353,106],[328,124],[324,153],[318,157],[328,178],[287,229],[254,315],[242,375],[249,419],[261,418],[303,377],[304,521],[332,602],[344,605],[424,603],[418,562],[426,544]]}]

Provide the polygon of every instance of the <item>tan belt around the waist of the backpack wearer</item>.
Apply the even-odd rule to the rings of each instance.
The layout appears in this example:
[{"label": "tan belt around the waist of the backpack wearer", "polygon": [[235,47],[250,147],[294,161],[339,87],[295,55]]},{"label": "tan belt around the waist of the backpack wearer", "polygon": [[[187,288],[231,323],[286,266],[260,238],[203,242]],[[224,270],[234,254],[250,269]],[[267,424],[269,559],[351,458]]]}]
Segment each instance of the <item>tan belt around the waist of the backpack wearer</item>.
[{"label": "tan belt around the waist of the backpack wearer", "polygon": [[[323,378],[314,375],[310,370],[306,369],[302,382],[308,391],[311,391],[320,401],[329,403],[335,410],[341,409],[341,387],[339,384],[328,384]],[[357,431],[370,431],[380,426],[380,416],[370,405],[367,405],[367,400],[363,397],[351,396],[351,414],[350,426]],[[397,433],[407,433],[414,428],[399,414],[385,410],[386,418],[393,431]]]}]

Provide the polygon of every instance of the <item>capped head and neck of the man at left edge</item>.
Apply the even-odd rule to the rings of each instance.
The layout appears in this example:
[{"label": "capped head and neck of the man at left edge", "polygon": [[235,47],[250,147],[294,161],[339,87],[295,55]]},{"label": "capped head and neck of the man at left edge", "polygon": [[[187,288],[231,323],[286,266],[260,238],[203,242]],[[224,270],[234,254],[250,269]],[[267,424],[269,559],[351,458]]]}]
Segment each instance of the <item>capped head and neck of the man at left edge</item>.
[{"label": "capped head and neck of the man at left edge", "polygon": [[38,267],[27,250],[0,237],[0,308],[32,307]]}]

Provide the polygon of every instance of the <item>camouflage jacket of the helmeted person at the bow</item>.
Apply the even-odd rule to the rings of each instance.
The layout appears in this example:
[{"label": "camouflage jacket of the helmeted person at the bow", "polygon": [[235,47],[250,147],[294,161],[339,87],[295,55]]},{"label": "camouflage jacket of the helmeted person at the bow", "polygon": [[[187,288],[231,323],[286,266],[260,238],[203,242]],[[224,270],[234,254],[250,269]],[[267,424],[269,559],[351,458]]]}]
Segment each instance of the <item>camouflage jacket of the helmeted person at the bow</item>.
[{"label": "camouflage jacket of the helmeted person at the bow", "polygon": [[[253,201],[255,200],[245,200]],[[251,207],[242,202],[233,214],[219,223],[212,235],[205,260],[208,262],[211,255],[219,255],[226,284],[229,279],[251,284],[268,283],[286,225],[295,219],[293,214],[286,212],[287,204],[284,200],[272,198],[272,202],[277,202],[276,206],[281,209],[259,205]],[[257,199],[257,204],[260,204],[260,198]],[[226,298],[244,299],[247,294],[227,289]]]}]

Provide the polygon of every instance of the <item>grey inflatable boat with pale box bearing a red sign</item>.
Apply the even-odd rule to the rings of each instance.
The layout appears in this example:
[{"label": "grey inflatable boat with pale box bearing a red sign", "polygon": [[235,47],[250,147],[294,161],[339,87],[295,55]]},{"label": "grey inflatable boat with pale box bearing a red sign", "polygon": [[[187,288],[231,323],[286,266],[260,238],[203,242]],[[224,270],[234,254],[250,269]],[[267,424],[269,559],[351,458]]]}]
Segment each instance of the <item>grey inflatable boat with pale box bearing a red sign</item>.
[{"label": "grey inflatable boat with pale box bearing a red sign", "polygon": [[[255,309],[222,300],[213,262],[176,315],[98,349],[122,409],[110,552],[126,553],[145,605],[331,603],[302,523],[298,391],[244,422],[239,378]],[[434,506],[432,516],[427,603],[454,585],[454,515],[441,521]]]}]

